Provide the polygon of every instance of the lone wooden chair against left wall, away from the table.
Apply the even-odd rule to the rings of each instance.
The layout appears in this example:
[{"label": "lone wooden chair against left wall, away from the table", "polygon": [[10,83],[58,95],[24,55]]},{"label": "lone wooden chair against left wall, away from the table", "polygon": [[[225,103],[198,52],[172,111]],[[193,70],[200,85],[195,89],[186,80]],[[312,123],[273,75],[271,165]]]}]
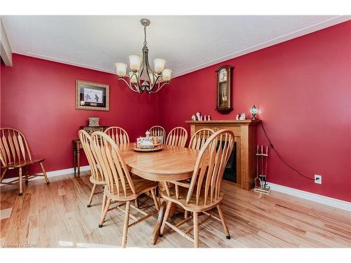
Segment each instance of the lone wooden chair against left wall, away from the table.
[{"label": "lone wooden chair against left wall, away from the table", "polygon": [[[0,177],[0,184],[19,185],[19,196],[22,196],[23,176],[25,177],[24,180],[26,184],[29,179],[38,176],[44,176],[46,184],[50,184],[43,165],[45,159],[32,159],[25,135],[13,128],[0,128],[0,136],[0,160],[1,169],[3,170]],[[43,172],[42,175],[28,174],[28,166],[34,163],[39,163],[41,171]],[[3,182],[6,172],[17,168],[18,179],[11,180],[10,182]]]}]

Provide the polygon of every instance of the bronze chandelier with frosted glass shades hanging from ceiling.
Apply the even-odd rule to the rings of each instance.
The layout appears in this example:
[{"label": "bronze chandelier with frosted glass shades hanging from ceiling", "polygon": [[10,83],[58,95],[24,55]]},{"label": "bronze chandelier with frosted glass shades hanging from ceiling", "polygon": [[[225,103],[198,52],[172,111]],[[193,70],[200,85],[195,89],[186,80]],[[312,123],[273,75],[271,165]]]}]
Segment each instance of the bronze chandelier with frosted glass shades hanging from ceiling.
[{"label": "bronze chandelier with frosted glass shades hanging from ceiling", "polygon": [[146,27],[150,25],[150,20],[143,18],[140,20],[141,25],[144,27],[144,46],[142,49],[143,59],[138,55],[129,56],[129,81],[126,81],[127,65],[124,63],[116,63],[117,75],[120,81],[124,81],[128,88],[135,93],[147,94],[157,93],[161,88],[169,83],[171,79],[172,70],[165,69],[164,65],[166,60],[161,58],[154,59],[154,71],[149,63],[149,48],[147,48],[146,41]]}]

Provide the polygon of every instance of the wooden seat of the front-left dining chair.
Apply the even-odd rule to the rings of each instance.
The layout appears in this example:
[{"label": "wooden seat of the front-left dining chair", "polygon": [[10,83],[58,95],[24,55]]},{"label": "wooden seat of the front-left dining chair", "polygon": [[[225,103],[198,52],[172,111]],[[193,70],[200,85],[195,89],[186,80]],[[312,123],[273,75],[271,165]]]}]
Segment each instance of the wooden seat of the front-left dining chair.
[{"label": "wooden seat of the front-left dining chair", "polygon": [[126,195],[124,195],[124,190],[121,187],[121,182],[119,182],[119,194],[117,194],[117,187],[114,184],[114,194],[111,194],[110,191],[105,187],[105,195],[115,201],[131,201],[140,196],[140,194],[145,194],[152,189],[157,188],[157,182],[152,182],[150,180],[145,180],[138,175],[131,175],[131,180],[135,188],[135,194],[129,187],[129,184],[126,184]]}]

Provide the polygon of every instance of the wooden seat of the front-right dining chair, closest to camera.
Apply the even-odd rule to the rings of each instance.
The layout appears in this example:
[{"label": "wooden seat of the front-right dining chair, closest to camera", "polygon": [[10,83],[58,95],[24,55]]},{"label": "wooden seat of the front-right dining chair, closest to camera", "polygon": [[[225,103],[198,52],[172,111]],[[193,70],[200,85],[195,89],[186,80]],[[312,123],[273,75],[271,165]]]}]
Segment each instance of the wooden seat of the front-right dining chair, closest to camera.
[{"label": "wooden seat of the front-right dining chair, closest to camera", "polygon": [[206,205],[204,205],[204,198],[200,198],[201,200],[199,201],[199,205],[196,204],[196,190],[194,190],[194,193],[192,194],[192,198],[190,199],[189,203],[186,202],[187,198],[187,192],[189,191],[188,188],[185,187],[179,187],[179,198],[176,197],[176,189],[173,187],[169,189],[170,191],[170,196],[167,195],[166,191],[161,191],[161,197],[166,199],[166,201],[171,201],[173,203],[176,203],[183,207],[185,210],[190,211],[190,212],[203,212],[206,210],[210,210],[214,208],[218,203],[220,203],[223,200],[223,193],[220,193],[220,196],[217,198],[216,201],[211,200],[206,201]]}]

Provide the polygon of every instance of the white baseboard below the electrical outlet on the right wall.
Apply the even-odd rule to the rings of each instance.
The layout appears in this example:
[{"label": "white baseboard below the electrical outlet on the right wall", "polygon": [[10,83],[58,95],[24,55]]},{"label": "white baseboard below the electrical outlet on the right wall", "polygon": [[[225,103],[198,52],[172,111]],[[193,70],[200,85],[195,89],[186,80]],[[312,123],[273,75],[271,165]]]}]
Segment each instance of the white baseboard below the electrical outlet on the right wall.
[{"label": "white baseboard below the electrical outlet on the right wall", "polygon": [[270,189],[272,189],[272,191],[279,191],[284,194],[289,194],[291,196],[303,198],[308,201],[322,203],[324,205],[332,206],[333,208],[339,208],[339,209],[343,209],[351,212],[350,202],[327,197],[327,196],[321,196],[319,194],[313,194],[308,191],[302,191],[302,190],[298,190],[290,187],[284,187],[283,185],[273,184],[271,182],[267,182],[267,184],[270,187]]}]

